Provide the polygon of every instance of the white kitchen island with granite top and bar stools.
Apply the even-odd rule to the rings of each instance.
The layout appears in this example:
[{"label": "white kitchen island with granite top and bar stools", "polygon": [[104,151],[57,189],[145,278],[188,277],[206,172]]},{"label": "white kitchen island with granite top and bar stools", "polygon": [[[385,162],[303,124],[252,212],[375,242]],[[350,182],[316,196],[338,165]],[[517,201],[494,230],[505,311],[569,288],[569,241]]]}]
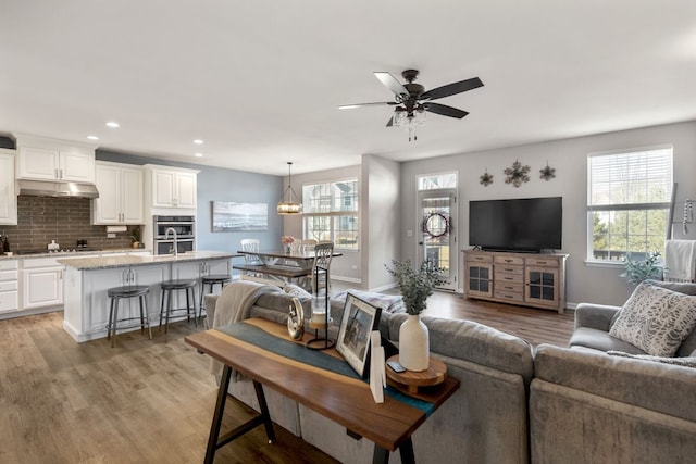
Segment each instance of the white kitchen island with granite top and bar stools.
[{"label": "white kitchen island with granite top and bar stools", "polygon": [[[65,266],[63,280],[63,329],[78,342],[104,338],[109,321],[107,290],[124,285],[147,285],[148,313],[153,326],[159,324],[160,284],[170,279],[196,279],[212,274],[229,274],[234,252],[195,251],[175,255],[103,255],[98,258],[59,259]],[[200,281],[196,287],[196,302]],[[174,308],[186,303],[174,298]],[[123,301],[123,317],[138,314],[137,301]],[[134,330],[137,328],[134,328]]]}]

